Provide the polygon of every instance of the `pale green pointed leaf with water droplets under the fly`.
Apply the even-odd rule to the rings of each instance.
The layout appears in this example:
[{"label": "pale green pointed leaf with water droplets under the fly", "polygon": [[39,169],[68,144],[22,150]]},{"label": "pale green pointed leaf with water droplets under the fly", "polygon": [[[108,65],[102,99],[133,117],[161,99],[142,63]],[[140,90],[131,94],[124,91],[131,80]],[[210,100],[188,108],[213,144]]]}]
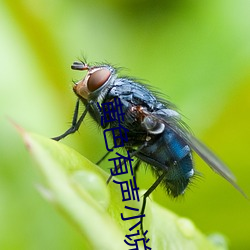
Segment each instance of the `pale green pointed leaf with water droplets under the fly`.
[{"label": "pale green pointed leaf with water droplets under the fly", "polygon": [[[136,233],[137,228],[132,232],[128,228],[137,220],[122,221],[120,214],[135,216],[124,206],[140,208],[141,204],[122,202],[120,187],[112,182],[106,185],[108,174],[72,148],[19,131],[44,176],[46,187],[40,185],[39,190],[81,232],[84,249],[131,248],[124,243],[125,235]],[[144,228],[150,239],[147,245],[152,249],[226,249],[225,243],[213,244],[189,219],[180,218],[151,199],[145,214]]]}]

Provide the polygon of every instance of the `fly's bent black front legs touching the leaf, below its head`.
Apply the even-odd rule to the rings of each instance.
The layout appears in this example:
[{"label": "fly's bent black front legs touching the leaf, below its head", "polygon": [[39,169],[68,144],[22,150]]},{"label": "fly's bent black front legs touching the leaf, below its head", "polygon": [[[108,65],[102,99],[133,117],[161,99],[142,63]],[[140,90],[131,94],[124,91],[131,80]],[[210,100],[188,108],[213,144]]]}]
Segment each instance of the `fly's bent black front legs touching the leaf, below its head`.
[{"label": "fly's bent black front legs touching the leaf, below its head", "polygon": [[84,112],[82,113],[82,115],[80,116],[79,120],[77,120],[78,119],[78,112],[79,112],[79,104],[80,104],[80,101],[78,99],[76,102],[71,127],[62,135],[59,135],[59,136],[51,138],[51,139],[53,139],[55,141],[60,141],[64,137],[68,136],[69,134],[75,133],[79,129],[79,127],[80,127],[80,125],[81,125],[81,123],[82,123],[82,121],[83,121],[84,117],[86,116],[88,109],[89,109],[89,106],[87,106],[86,109],[84,110]]}]

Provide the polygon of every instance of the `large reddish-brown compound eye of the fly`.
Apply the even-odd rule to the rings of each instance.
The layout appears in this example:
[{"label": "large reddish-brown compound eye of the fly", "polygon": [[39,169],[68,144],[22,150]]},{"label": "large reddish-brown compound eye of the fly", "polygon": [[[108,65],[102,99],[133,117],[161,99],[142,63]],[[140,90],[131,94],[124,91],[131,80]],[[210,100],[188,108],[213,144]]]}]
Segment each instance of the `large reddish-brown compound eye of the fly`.
[{"label": "large reddish-brown compound eye of the fly", "polygon": [[88,90],[93,92],[99,89],[109,78],[110,71],[108,69],[99,69],[92,73],[88,79]]}]

